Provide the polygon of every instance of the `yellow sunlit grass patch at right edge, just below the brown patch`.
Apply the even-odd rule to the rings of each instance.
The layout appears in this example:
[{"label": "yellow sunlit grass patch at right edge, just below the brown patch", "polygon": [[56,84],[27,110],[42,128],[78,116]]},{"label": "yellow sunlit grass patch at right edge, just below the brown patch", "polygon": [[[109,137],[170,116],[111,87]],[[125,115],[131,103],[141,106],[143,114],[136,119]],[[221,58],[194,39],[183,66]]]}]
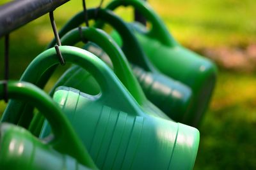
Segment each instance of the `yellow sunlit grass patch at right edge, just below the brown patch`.
[{"label": "yellow sunlit grass patch at right edge, just below the brown patch", "polygon": [[218,76],[218,89],[214,94],[211,108],[218,111],[220,108],[249,104],[256,106],[255,74],[221,73]]}]

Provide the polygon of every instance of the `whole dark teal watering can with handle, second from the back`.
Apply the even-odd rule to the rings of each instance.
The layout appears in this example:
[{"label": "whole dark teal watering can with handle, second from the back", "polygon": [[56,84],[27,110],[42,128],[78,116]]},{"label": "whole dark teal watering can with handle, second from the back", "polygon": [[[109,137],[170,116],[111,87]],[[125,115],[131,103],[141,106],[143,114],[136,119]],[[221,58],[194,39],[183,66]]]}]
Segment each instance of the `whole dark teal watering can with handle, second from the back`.
[{"label": "whole dark teal watering can with handle, second from the back", "polygon": [[[94,14],[95,14],[94,9],[88,10],[88,19],[89,20],[92,18],[95,19]],[[64,34],[66,34],[68,31],[70,31],[70,29],[76,28],[79,25],[83,24],[83,21],[84,21],[83,18],[84,18],[83,12],[81,12],[81,13],[78,13],[71,20],[69,20],[68,23],[65,24],[61,29],[60,36],[63,36]],[[116,15],[113,15],[111,11],[99,10],[97,14],[97,20],[103,20],[104,22],[108,22],[108,24],[113,26],[120,33],[120,35],[122,35],[122,39],[125,40],[123,50],[127,59],[133,64],[134,63],[138,64],[145,69],[145,71],[143,71],[143,69],[140,69],[140,67],[138,67],[138,69],[140,69],[140,72],[138,72],[137,71],[138,69],[136,69],[134,70],[134,73],[138,78],[138,80],[140,81],[140,85],[143,88],[143,91],[145,92],[148,99],[150,99],[150,101],[152,101],[161,110],[163,110],[164,113],[166,113],[170,118],[173,118],[173,120],[178,122],[185,122],[184,118],[189,112],[189,106],[191,106],[192,94],[189,87],[175,80],[172,80],[167,76],[164,76],[162,73],[159,73],[156,69],[154,69],[154,66],[152,66],[152,64],[150,64],[150,62],[148,61],[147,57],[141,50],[140,45],[138,44],[138,41],[136,41],[136,38],[132,34],[129,27],[127,27],[124,21],[122,21],[119,17],[117,17]],[[73,44],[74,43],[68,44],[68,45],[73,45]],[[52,41],[50,46],[52,45],[54,45],[54,41]],[[135,67],[136,66],[134,66],[134,68]],[[114,70],[115,70],[115,66],[114,66]],[[115,73],[117,72],[115,71]],[[86,74],[85,71],[84,71],[84,74]],[[77,77],[76,79],[79,80],[78,79],[79,76],[76,76],[76,77]],[[118,76],[118,78],[120,78],[120,76]],[[63,77],[61,79],[63,79]],[[63,81],[63,80],[60,80],[60,81]],[[71,80],[68,80],[68,81],[70,83],[68,83],[67,85],[69,86],[71,85],[72,87],[74,87],[74,85],[71,84],[72,81]],[[92,89],[92,86],[89,87],[88,85],[87,87],[88,88],[83,87],[86,89],[81,89],[81,87],[79,87],[76,83],[75,88],[83,92],[88,92],[88,89]],[[97,87],[97,85],[94,85],[94,87]],[[125,85],[125,87],[127,86]],[[163,87],[164,87],[164,90],[162,89]],[[127,87],[127,89],[129,88]],[[130,89],[129,91],[132,93]],[[134,93],[132,93],[132,95],[134,96]],[[138,101],[138,103],[140,102]]]}]

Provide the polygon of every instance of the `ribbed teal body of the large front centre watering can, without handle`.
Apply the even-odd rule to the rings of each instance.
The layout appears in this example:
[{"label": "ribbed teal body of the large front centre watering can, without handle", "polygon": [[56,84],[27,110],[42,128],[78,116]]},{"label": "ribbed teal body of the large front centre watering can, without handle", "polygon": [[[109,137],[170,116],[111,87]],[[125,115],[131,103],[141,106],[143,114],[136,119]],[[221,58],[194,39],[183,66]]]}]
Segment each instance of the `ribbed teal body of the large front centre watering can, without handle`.
[{"label": "ribbed teal body of the large front centre watering can, without handle", "polygon": [[58,87],[54,94],[99,169],[193,169],[198,130],[142,110],[125,112],[106,104],[113,98],[122,104],[122,98],[103,96],[71,87]]}]

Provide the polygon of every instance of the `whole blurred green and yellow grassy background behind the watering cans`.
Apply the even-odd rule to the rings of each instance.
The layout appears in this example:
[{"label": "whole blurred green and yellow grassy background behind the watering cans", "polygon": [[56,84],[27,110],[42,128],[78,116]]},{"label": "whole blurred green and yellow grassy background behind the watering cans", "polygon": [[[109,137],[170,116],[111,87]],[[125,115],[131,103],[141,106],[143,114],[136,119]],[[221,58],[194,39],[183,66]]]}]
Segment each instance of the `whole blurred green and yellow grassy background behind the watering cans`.
[{"label": "whole blurred green and yellow grassy background behind the watering cans", "polygon": [[[0,5],[7,3],[1,0]],[[255,0],[148,0],[180,44],[214,60],[219,68],[211,106],[200,130],[195,169],[256,169],[256,13]],[[86,1],[88,7],[100,1]],[[104,1],[104,4],[108,1]],[[54,12],[56,25],[82,10],[72,0]],[[132,20],[131,9],[118,15]],[[53,38],[49,15],[10,34],[10,79],[17,80],[29,62]],[[0,80],[3,80],[3,38]],[[61,74],[54,74],[52,83]],[[0,102],[0,114],[5,103]]]}]

